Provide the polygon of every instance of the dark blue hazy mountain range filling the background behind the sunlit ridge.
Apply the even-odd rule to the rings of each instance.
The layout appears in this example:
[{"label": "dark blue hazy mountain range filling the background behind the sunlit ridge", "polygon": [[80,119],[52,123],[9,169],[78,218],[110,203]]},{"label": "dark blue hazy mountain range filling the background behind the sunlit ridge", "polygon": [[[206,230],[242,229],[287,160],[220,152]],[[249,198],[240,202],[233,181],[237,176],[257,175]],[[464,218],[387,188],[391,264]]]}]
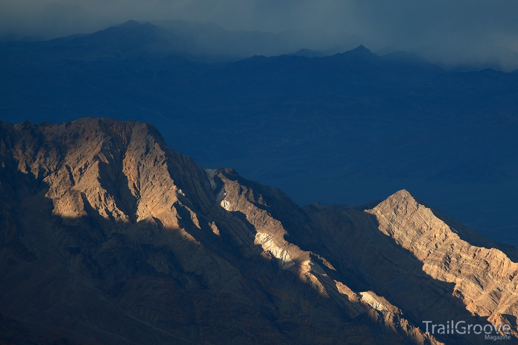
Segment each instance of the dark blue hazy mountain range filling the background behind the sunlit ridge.
[{"label": "dark blue hazy mountain range filling the background behind the sunlit ridge", "polygon": [[200,165],[236,168],[300,205],[405,188],[518,243],[518,73],[447,72],[363,46],[208,63],[232,54],[209,56],[199,35],[165,26],[2,43],[2,120],[138,119]]}]

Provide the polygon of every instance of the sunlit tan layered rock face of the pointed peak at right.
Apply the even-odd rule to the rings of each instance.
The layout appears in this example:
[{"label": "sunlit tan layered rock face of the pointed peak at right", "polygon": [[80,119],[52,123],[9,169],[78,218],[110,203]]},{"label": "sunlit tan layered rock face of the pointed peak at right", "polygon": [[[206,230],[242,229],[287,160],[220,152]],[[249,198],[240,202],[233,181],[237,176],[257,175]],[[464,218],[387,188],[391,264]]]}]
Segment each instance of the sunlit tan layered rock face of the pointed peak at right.
[{"label": "sunlit tan layered rock face of the pointed peak at right", "polygon": [[485,240],[487,248],[472,245],[461,236],[480,235],[465,227],[451,227],[439,218],[439,212],[406,190],[365,212],[376,217],[381,232],[423,263],[426,274],[454,283],[453,294],[462,299],[467,310],[492,321],[513,323],[516,319],[518,264],[497,249],[497,244]]}]

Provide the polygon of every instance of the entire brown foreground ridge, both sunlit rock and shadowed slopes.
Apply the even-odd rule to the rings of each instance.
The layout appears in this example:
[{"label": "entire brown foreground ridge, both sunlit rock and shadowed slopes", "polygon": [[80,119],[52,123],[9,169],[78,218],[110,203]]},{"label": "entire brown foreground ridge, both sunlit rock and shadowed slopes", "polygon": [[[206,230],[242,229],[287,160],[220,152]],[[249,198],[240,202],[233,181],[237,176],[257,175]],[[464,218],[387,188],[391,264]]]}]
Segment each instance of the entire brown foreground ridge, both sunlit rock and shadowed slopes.
[{"label": "entire brown foreground ridge, both sunlit rock and shadowed slopes", "polygon": [[[180,135],[180,134],[179,134]],[[140,122],[0,126],[2,344],[470,344],[518,250],[402,190],[297,206]]]}]

